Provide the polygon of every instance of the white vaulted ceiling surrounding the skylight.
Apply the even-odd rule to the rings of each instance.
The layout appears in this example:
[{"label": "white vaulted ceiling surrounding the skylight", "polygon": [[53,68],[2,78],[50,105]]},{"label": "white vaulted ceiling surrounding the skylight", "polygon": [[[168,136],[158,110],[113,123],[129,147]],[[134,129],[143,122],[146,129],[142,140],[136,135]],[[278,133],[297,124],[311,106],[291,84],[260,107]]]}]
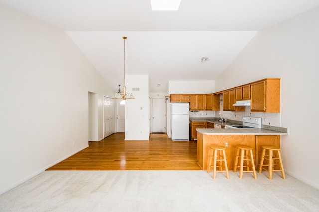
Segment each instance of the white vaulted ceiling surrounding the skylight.
[{"label": "white vaulted ceiling surrounding the skylight", "polygon": [[114,90],[123,85],[127,36],[126,74],[148,74],[151,92],[167,92],[168,80],[215,80],[256,32],[319,6],[319,0],[182,0],[178,11],[151,11],[150,0],[0,3],[66,31]]}]

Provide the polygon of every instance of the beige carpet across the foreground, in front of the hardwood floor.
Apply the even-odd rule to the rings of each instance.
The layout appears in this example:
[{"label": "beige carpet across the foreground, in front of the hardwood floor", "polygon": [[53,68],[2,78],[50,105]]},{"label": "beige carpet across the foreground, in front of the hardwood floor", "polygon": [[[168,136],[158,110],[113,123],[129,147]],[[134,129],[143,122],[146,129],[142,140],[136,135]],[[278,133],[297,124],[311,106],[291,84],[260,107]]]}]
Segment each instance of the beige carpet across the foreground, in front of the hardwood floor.
[{"label": "beige carpet across the foreground, in front of the hardwood floor", "polygon": [[319,190],[289,175],[45,171],[0,196],[0,212],[318,212]]}]

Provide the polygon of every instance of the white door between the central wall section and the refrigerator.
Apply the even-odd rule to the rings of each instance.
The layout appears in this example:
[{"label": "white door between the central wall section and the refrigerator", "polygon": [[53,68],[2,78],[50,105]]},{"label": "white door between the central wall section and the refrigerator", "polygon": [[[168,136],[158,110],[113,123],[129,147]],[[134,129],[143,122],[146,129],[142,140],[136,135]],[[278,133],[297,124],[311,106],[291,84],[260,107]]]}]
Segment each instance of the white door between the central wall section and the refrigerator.
[{"label": "white door between the central wall section and the refrigerator", "polygon": [[166,100],[152,99],[152,132],[166,132]]}]

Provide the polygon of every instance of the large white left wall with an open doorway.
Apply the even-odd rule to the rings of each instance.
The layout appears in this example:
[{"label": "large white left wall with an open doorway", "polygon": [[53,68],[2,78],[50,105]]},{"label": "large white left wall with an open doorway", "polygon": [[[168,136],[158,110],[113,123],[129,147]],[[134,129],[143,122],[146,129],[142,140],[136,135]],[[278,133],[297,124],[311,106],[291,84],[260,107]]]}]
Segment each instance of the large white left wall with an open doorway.
[{"label": "large white left wall with an open doorway", "polygon": [[89,91],[103,138],[114,91],[62,30],[0,4],[0,70],[0,193],[88,146]]}]

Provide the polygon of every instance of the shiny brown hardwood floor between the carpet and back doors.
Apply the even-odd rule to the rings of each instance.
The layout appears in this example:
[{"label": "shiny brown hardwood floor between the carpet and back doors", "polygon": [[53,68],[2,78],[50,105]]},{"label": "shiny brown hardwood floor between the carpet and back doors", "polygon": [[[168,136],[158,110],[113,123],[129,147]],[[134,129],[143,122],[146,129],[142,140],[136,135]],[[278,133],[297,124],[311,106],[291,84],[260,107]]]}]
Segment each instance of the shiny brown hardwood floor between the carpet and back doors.
[{"label": "shiny brown hardwood floor between the carpet and back doors", "polygon": [[151,134],[149,141],[124,141],[114,133],[47,170],[201,170],[196,141],[171,141]]}]

